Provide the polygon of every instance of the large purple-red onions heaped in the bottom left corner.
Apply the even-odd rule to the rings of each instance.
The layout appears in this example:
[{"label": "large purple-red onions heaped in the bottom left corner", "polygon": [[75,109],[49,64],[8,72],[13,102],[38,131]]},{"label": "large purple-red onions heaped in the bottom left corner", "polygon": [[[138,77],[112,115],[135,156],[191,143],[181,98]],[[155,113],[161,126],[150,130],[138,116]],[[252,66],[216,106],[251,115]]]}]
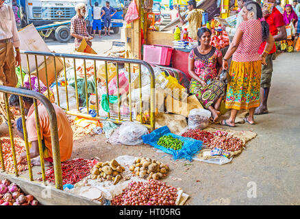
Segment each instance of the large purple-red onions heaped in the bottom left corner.
[{"label": "large purple-red onions heaped in the bottom left corner", "polygon": [[38,205],[31,194],[25,196],[15,183],[3,179],[0,185],[0,205]]}]

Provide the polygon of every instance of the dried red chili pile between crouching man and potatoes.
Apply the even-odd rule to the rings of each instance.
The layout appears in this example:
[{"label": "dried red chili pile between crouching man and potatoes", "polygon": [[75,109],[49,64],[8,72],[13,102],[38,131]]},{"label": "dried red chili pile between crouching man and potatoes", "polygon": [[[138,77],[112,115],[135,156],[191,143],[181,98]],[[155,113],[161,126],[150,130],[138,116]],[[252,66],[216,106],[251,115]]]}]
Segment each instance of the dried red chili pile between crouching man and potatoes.
[{"label": "dried red chili pile between crouching man and potatoes", "polygon": [[[75,184],[81,181],[84,177],[90,175],[92,166],[91,160],[82,158],[75,158],[68,162],[62,162],[62,184]],[[42,181],[42,178],[39,178],[38,180]],[[53,166],[46,171],[46,180],[49,183],[55,183]]]}]

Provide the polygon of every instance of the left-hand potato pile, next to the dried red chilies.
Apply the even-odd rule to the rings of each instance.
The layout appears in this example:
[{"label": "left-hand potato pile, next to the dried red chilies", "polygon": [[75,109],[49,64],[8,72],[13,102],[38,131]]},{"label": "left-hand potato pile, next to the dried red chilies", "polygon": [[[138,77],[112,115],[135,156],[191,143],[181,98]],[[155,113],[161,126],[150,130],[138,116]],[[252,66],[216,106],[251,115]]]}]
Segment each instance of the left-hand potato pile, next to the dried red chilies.
[{"label": "left-hand potato pile, next to the dried red chilies", "polygon": [[114,181],[114,185],[122,179],[121,172],[125,171],[125,168],[118,164],[115,159],[110,162],[98,162],[92,167],[90,173],[92,176],[90,179],[97,179],[102,182],[104,180]]}]

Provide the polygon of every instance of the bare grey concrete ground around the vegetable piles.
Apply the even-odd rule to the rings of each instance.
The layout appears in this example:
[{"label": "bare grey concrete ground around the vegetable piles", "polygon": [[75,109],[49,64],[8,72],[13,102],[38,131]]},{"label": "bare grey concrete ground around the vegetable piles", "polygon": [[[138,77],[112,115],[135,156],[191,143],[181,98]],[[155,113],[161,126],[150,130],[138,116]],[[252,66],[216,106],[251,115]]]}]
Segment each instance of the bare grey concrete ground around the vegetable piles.
[{"label": "bare grey concrete ground around the vegetable piles", "polygon": [[[300,53],[284,53],[274,61],[270,113],[255,116],[257,125],[236,127],[253,130],[258,136],[232,163],[174,162],[170,155],[156,153],[152,146],[112,145],[103,135],[75,140],[72,158],[99,157],[106,161],[134,155],[170,164],[171,172],[164,181],[190,195],[187,205],[300,205],[299,60]],[[5,128],[1,125],[1,131]]]}]

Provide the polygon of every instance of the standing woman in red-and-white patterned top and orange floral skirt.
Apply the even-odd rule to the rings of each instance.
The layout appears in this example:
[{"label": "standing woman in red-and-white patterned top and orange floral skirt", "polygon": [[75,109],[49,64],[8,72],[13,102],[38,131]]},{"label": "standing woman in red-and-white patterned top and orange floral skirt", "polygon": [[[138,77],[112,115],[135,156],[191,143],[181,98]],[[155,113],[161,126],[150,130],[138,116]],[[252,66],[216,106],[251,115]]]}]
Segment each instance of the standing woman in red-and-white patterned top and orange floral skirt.
[{"label": "standing woman in red-and-white patterned top and orange floral skirt", "polygon": [[[225,107],[231,109],[230,118],[222,120],[221,125],[235,127],[238,110],[249,110],[245,122],[254,124],[254,111],[260,105],[260,77],[262,64],[266,64],[265,57],[274,45],[274,38],[268,30],[268,24],[260,21],[262,10],[254,1],[248,2],[242,8],[244,21],[236,29],[236,35],[223,57],[223,69],[228,68],[229,57],[232,57],[229,75],[232,80],[227,84]],[[264,53],[260,55],[258,49],[265,40]]]}]

